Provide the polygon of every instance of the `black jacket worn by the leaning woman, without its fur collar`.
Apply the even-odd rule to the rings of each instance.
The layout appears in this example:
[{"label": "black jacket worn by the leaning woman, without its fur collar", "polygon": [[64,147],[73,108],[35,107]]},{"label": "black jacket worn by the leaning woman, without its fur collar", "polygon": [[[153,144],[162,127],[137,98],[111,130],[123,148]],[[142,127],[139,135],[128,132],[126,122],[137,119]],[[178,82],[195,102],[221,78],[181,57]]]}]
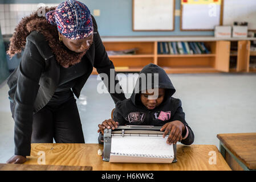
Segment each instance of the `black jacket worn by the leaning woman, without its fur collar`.
[{"label": "black jacket worn by the leaning woman, without its fur collar", "polygon": [[[97,32],[97,25],[94,20],[94,43],[82,59],[90,61],[90,68],[79,77],[72,88],[75,96],[79,98],[80,92],[92,73],[93,67],[98,73],[105,73],[110,77],[110,69],[114,65],[109,60],[100,35]],[[22,61],[19,67],[9,76],[9,99],[13,102],[14,108],[14,142],[15,155],[29,156],[31,150],[32,115],[42,109],[53,96],[59,85],[60,65],[57,63],[51,48],[44,36],[39,32],[32,31],[26,39],[26,47],[23,52]],[[116,72],[115,72],[116,75]],[[109,88],[110,79],[104,82]],[[115,85],[119,84],[115,81]],[[123,93],[112,93],[111,97],[116,103],[124,100]]]}]

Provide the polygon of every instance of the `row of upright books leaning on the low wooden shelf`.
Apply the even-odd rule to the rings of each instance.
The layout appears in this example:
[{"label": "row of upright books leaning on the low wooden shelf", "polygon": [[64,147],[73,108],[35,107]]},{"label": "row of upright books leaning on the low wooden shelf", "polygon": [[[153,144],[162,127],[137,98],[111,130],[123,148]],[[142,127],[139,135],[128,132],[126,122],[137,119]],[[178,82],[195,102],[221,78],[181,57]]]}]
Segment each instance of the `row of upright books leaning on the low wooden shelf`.
[{"label": "row of upright books leaning on the low wooden shelf", "polygon": [[200,55],[210,53],[203,42],[158,42],[159,55]]}]

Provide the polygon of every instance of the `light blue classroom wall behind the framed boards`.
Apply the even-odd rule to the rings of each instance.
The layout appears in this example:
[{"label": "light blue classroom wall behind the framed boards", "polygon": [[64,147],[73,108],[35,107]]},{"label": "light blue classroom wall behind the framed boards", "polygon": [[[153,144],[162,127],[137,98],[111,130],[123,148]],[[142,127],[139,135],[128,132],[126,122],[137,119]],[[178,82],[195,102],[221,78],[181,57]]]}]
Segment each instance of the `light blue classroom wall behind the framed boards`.
[{"label": "light blue classroom wall behind the framed boards", "polygon": [[[60,3],[64,0],[0,0],[0,3]],[[175,16],[174,31],[132,31],[132,0],[80,0],[93,13],[100,10],[100,16],[95,16],[101,36],[213,36],[213,31],[180,31],[180,16]],[[180,10],[180,0],[176,0],[176,10]],[[3,18],[3,17],[2,17]],[[14,23],[14,22],[13,22]],[[14,24],[11,23],[13,27]],[[11,28],[13,30],[13,28]]]}]

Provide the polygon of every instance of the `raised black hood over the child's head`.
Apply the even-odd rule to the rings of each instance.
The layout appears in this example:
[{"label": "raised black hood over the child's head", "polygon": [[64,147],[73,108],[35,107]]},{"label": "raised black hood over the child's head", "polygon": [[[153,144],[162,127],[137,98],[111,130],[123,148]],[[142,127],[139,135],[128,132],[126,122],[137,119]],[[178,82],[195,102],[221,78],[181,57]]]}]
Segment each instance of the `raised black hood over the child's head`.
[{"label": "raised black hood over the child's head", "polygon": [[[149,88],[165,89],[165,100],[166,98],[171,97],[176,92],[172,82],[170,81],[170,78],[168,77],[164,69],[152,63],[146,65],[139,73],[139,77],[136,81],[136,85],[133,89],[133,93],[131,96],[131,101],[133,102],[133,104],[139,105],[141,103],[140,93]],[[162,103],[164,103],[165,100],[162,101]]]}]

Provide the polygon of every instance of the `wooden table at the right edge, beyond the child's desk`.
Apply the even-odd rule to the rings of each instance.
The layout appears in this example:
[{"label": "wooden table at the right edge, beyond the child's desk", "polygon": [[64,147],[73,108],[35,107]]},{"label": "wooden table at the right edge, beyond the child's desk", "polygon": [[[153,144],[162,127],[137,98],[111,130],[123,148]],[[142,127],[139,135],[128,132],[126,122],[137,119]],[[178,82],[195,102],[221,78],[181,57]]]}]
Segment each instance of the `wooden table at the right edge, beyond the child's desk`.
[{"label": "wooden table at the right edge, beyond the child's desk", "polygon": [[256,170],[256,133],[218,134],[220,151],[233,170]]}]

